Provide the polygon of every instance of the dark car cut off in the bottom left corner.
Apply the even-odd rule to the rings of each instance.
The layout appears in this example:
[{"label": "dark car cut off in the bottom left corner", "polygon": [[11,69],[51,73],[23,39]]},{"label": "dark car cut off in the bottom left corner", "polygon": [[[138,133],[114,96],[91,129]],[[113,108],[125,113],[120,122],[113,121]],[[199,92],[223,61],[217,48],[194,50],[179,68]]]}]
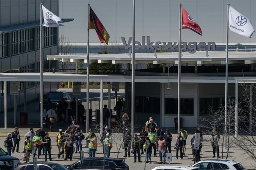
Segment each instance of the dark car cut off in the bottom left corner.
[{"label": "dark car cut off in the bottom left corner", "polygon": [[21,163],[19,162],[19,158],[7,155],[7,153],[0,148],[0,170],[12,170],[14,160],[18,160],[18,163]]}]

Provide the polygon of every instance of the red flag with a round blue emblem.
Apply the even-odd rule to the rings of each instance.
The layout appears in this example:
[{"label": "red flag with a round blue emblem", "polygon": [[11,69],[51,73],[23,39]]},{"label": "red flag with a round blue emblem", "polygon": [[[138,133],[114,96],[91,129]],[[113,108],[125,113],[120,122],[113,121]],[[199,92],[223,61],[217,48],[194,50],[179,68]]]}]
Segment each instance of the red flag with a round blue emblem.
[{"label": "red flag with a round blue emblem", "polygon": [[195,20],[189,15],[189,13],[182,7],[182,29],[190,29],[200,36],[202,36],[202,30]]}]

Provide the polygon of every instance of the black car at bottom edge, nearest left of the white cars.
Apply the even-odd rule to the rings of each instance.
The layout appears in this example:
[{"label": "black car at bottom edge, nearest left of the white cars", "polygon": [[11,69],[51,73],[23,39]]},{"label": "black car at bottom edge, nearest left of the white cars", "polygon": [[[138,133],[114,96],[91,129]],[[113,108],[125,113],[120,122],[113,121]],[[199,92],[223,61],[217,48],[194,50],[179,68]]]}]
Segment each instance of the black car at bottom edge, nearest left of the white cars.
[{"label": "black car at bottom edge, nearest left of the white cars", "polygon": [[105,167],[103,167],[102,157],[84,158],[83,164],[77,161],[66,167],[71,169],[109,169],[109,170],[129,170],[129,166],[121,159],[118,158],[105,158]]}]

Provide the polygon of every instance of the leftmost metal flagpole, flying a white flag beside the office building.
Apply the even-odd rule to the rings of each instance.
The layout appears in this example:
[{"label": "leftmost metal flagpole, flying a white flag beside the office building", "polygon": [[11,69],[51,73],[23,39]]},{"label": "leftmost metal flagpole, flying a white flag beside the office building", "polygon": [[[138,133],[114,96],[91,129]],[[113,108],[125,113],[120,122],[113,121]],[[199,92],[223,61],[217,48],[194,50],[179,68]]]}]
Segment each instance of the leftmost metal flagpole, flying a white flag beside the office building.
[{"label": "leftmost metal flagpole, flying a white flag beside the office building", "polygon": [[42,3],[40,4],[40,127],[43,127],[43,34]]}]

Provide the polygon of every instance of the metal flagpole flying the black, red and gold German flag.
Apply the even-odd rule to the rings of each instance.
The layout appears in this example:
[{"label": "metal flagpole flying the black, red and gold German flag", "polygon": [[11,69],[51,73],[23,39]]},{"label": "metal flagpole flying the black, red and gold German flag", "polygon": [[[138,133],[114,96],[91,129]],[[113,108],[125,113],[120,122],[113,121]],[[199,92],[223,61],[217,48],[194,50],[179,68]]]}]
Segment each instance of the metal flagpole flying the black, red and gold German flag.
[{"label": "metal flagpole flying the black, red and gold German flag", "polygon": [[[86,132],[89,131],[89,75],[90,75],[90,45],[89,45],[89,31],[90,31],[90,3],[88,3],[88,28],[87,28],[87,66],[86,66]],[[78,99],[76,99],[78,100]],[[102,131],[102,129],[100,129]]]}]

